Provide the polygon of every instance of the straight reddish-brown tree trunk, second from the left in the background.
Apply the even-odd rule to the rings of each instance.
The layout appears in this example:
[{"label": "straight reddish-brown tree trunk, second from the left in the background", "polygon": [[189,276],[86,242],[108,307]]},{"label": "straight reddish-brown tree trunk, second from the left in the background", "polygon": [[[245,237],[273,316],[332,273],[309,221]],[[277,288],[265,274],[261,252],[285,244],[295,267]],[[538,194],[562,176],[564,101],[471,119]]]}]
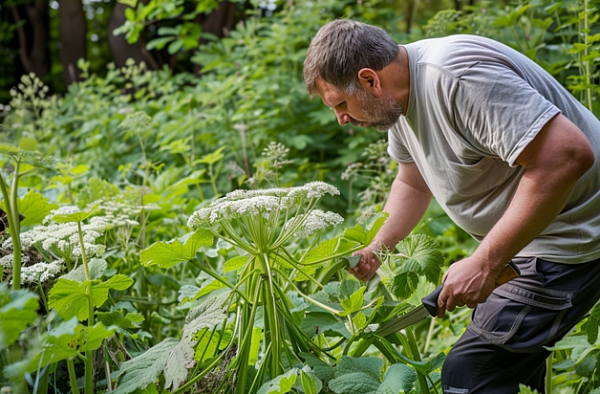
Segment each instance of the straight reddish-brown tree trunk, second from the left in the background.
[{"label": "straight reddish-brown tree trunk, second from the left in the background", "polygon": [[60,0],[60,61],[65,83],[80,81],[77,61],[87,57],[87,22],[81,0]]}]

